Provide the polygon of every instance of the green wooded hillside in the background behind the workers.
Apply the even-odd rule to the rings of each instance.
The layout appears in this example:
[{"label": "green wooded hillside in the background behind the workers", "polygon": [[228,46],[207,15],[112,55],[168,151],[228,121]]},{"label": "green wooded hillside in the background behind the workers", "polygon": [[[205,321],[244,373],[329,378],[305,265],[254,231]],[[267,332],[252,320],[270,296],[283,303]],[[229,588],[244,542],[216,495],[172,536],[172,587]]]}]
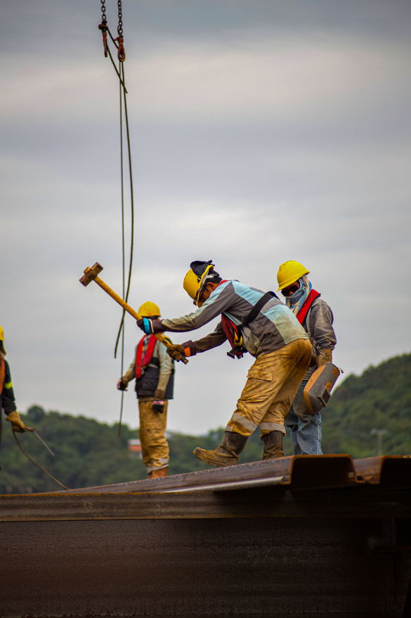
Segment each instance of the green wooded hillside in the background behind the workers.
[{"label": "green wooded hillside in the background behind the workers", "polygon": [[[19,435],[22,446],[40,465],[70,488],[105,485],[147,478],[141,459],[127,449],[138,430],[109,426],[84,417],[45,412],[33,406],[22,415],[56,454],[54,458],[33,434]],[[324,453],[351,453],[354,458],[377,455],[372,429],[386,429],[384,455],[411,454],[411,354],[370,367],[360,377],[348,376],[322,415]],[[54,491],[59,486],[35,467],[18,448],[8,422],[1,445],[0,493]],[[196,446],[214,448],[223,429],[207,436],[171,434],[169,474],[208,469],[193,455]],[[250,437],[240,463],[261,459],[259,431]],[[285,454],[292,454],[289,436]]]}]

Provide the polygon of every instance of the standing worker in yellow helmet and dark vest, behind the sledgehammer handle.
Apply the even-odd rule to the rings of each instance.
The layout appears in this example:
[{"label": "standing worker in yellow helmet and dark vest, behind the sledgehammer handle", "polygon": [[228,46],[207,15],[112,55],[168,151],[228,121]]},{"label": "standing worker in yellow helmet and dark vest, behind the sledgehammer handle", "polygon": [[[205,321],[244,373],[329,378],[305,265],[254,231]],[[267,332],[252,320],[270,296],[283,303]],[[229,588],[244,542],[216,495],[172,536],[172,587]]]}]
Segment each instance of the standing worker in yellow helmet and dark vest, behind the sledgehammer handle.
[{"label": "standing worker in yellow helmet and dark vest, behind the sledgehammer handle", "polygon": [[[160,310],[155,303],[144,303],[138,313],[158,320]],[[170,341],[171,343],[171,341]],[[152,334],[143,336],[136,346],[136,354],[117,388],[126,390],[136,378],[136,395],[140,417],[139,437],[143,462],[150,479],[167,477],[169,443],[164,434],[167,427],[167,407],[174,391],[174,360],[167,348]]]}]

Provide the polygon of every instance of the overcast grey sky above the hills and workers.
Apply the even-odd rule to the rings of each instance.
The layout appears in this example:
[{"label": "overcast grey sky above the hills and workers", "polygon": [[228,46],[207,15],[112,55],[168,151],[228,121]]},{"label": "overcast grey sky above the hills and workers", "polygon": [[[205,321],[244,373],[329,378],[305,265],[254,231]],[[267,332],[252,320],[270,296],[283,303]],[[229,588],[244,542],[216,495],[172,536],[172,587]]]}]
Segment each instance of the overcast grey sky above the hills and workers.
[{"label": "overcast grey sky above the hills and workers", "polygon": [[[98,261],[122,289],[119,89],[100,2],[0,5],[0,324],[18,408],[115,422],[121,309],[79,284]],[[299,260],[334,312],[345,377],[410,352],[410,2],[124,0],[123,23],[130,304],[189,313],[192,260],[264,291]],[[129,230],[126,194],[126,246]],[[126,367],[140,334],[127,317]],[[178,364],[169,429],[226,424],[252,363],[227,351]],[[124,421],[138,426],[131,388]]]}]

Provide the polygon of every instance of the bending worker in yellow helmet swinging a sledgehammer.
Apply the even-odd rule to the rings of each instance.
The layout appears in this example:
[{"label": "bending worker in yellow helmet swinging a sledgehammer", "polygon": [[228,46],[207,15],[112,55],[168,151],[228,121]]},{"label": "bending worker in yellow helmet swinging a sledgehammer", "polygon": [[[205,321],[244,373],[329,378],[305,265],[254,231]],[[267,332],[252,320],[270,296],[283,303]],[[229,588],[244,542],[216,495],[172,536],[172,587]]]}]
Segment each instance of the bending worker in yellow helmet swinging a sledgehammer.
[{"label": "bending worker in yellow helmet swinging a sledgehammer", "polygon": [[169,354],[181,360],[228,339],[233,346],[228,355],[241,358],[247,351],[256,357],[223,442],[215,450],[197,447],[195,456],[209,465],[235,465],[248,436],[260,427],[263,459],[282,457],[284,417],[311,362],[308,335],[273,292],[265,294],[237,281],[222,281],[211,260],[192,262],[183,287],[198,307],[194,313],[175,320],[145,318],[138,320],[138,326],[146,333],[186,332],[221,315],[214,333],[171,346]]}]

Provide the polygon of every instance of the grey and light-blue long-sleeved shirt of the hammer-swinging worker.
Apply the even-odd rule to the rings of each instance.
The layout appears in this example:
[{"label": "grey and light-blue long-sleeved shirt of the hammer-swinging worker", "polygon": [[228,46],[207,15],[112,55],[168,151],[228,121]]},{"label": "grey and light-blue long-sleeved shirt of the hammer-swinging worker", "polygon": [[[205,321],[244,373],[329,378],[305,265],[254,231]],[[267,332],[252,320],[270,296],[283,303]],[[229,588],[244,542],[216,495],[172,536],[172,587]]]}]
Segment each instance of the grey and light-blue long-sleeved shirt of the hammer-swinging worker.
[{"label": "grey and light-blue long-sleeved shirt of the hammer-swinging worker", "polygon": [[[242,324],[254,305],[265,292],[241,284],[237,281],[221,283],[211,292],[207,301],[194,313],[177,317],[174,320],[162,320],[165,330],[171,332],[187,332],[202,327],[214,320],[214,317],[224,314],[234,324]],[[253,356],[270,353],[286,346],[296,339],[308,339],[308,335],[294,313],[278,298],[271,298],[257,315],[242,330],[243,346]],[[195,352],[204,352],[226,341],[221,322],[213,333],[191,342]]]}]

